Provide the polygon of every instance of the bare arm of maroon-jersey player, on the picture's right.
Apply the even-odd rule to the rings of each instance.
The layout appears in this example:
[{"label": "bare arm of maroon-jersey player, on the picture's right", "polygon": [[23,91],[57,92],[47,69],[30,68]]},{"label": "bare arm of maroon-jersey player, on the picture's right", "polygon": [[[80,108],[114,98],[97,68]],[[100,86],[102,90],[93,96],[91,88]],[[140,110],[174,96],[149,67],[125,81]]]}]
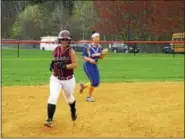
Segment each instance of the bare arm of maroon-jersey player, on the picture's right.
[{"label": "bare arm of maroon-jersey player, on the picture's right", "polygon": [[66,65],[66,68],[75,69],[78,67],[78,58],[74,49],[71,49],[70,55],[71,55],[71,64]]}]

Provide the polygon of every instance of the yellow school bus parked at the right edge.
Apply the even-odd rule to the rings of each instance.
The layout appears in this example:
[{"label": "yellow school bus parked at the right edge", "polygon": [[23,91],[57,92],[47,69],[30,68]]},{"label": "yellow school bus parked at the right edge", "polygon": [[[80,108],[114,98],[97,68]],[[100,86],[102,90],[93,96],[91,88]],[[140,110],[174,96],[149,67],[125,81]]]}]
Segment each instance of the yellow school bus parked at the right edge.
[{"label": "yellow school bus parked at the right edge", "polygon": [[[183,41],[185,33],[174,33],[172,35],[172,41]],[[185,53],[184,43],[171,43],[174,53]]]}]

